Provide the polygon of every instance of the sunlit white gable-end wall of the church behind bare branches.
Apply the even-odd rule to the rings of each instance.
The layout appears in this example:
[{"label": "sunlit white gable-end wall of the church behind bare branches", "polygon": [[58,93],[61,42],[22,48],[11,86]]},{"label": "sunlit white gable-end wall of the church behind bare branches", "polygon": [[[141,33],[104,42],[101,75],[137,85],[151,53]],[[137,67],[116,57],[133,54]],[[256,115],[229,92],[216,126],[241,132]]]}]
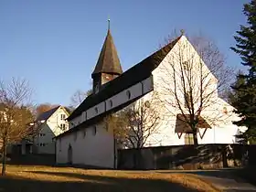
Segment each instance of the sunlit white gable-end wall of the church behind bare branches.
[{"label": "sunlit white gable-end wall of the church behind bare branches", "polygon": [[[185,54],[187,59],[193,57],[193,59],[199,59],[196,50],[190,45],[187,41],[186,37],[181,37],[178,44],[167,54],[162,63],[156,68],[153,74],[154,80],[154,91],[158,92],[161,101],[165,101],[165,109],[161,110],[161,124],[158,126],[157,133],[153,133],[147,140],[145,146],[159,146],[159,145],[180,145],[185,144],[185,133],[181,134],[180,138],[177,133],[175,133],[176,129],[176,114],[180,113],[173,107],[171,101],[175,100],[168,95],[165,90],[165,85],[168,85],[168,88],[174,87],[174,80],[170,79],[169,72],[172,71],[170,62],[176,61],[177,63],[173,66],[178,66],[179,61],[175,59],[176,53],[179,51],[180,47],[186,45],[185,48],[188,48],[189,54]],[[196,63],[196,61],[193,61]],[[209,69],[204,66],[203,69],[206,73],[209,72]],[[176,69],[178,70],[178,69]],[[197,69],[195,70],[195,74],[197,76]],[[209,91],[214,91],[217,88],[218,80],[214,77],[214,75],[208,75],[208,81],[210,81],[210,86],[208,86]],[[208,91],[206,91],[206,94]],[[144,97],[148,97],[145,95]],[[184,98],[184,93],[180,92],[178,95],[179,98]],[[166,102],[170,101],[169,103]],[[182,100],[182,99],[181,99]],[[185,99],[184,99],[185,100]],[[216,112],[216,118],[219,118],[219,121],[212,120],[212,122],[218,124],[218,126],[211,123],[212,129],[208,129],[203,136],[200,137],[200,134],[197,134],[198,144],[233,144],[237,140],[235,135],[238,133],[239,128],[232,124],[232,121],[237,121],[238,116],[234,114],[233,108],[225,101],[221,100],[218,97],[218,92],[215,92],[213,95],[214,104],[212,104],[209,109],[202,112],[202,116],[213,117],[213,112]],[[157,107],[157,106],[156,106]],[[185,107],[185,106],[184,106]],[[228,114],[223,113],[223,108],[226,107],[228,110]],[[221,115],[219,115],[221,113]],[[199,130],[200,133],[203,133],[203,130]]]}]

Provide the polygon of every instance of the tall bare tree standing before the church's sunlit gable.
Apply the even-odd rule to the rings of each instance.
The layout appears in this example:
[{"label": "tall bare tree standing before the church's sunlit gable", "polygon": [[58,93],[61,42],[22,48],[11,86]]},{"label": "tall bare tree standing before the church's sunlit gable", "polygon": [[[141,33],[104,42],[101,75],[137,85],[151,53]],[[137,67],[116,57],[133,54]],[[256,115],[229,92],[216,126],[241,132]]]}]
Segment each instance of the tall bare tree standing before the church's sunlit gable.
[{"label": "tall bare tree standing before the church's sunlit gable", "polygon": [[185,38],[176,42],[171,54],[167,47],[160,51],[166,62],[158,67],[163,74],[158,87],[167,115],[181,122],[182,132],[192,133],[197,145],[198,128],[224,122],[227,116],[219,112],[223,108],[219,94],[226,90],[231,70],[213,42],[205,37]]}]

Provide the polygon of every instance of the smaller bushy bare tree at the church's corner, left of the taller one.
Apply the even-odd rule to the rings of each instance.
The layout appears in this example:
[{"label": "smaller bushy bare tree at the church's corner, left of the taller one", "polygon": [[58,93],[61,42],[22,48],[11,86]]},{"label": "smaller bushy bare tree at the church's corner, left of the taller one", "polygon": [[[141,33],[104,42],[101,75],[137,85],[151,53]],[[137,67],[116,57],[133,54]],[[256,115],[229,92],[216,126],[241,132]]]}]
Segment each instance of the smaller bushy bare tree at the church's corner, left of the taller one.
[{"label": "smaller bushy bare tree at the church's corner, left of the taller one", "polygon": [[153,91],[122,111],[106,118],[112,127],[119,148],[142,148],[148,138],[157,133],[163,108],[158,93]]}]

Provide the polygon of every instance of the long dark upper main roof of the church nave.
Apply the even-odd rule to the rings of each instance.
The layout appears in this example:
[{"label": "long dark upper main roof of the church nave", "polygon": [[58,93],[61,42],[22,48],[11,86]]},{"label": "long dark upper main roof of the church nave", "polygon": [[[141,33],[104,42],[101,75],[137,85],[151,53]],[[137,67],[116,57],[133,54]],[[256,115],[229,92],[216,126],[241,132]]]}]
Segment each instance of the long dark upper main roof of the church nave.
[{"label": "long dark upper main roof of the church nave", "polygon": [[69,115],[68,121],[79,116],[81,112],[88,110],[101,101],[105,101],[118,92],[121,92],[133,86],[134,84],[150,77],[151,72],[157,68],[163,59],[165,59],[165,56],[175,46],[179,38],[180,37],[177,37],[164,48],[157,50],[151,56],[134,65],[131,69],[123,72],[123,74],[121,74],[119,77],[106,83],[103,89],[97,94],[91,94],[88,96],[84,101],[81,102],[80,106]]}]

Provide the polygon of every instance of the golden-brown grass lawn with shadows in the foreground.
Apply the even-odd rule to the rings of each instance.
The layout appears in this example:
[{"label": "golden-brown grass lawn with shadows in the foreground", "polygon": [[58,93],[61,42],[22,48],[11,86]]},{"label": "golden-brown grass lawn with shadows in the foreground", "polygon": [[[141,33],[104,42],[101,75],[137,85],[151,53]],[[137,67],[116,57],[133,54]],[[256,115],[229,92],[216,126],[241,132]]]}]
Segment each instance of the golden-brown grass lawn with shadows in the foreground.
[{"label": "golden-brown grass lawn with shadows in the foreground", "polygon": [[218,191],[197,176],[148,171],[7,165],[0,192]]}]

